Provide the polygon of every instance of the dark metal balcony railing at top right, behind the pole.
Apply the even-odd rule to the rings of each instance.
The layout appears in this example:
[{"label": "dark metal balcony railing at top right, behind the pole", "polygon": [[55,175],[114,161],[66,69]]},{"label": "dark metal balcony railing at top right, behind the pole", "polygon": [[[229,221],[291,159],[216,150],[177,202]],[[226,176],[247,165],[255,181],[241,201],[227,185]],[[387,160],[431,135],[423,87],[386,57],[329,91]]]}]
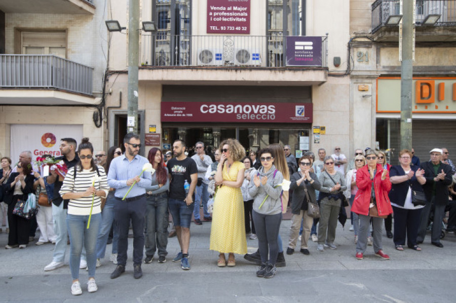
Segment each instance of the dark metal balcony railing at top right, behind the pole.
[{"label": "dark metal balcony railing at top right, behind the pole", "polygon": [[[400,14],[399,0],[377,0],[372,4],[372,33],[382,26],[391,15]],[[429,15],[440,15],[435,26],[456,26],[456,1],[416,0],[415,24],[421,25]]]}]

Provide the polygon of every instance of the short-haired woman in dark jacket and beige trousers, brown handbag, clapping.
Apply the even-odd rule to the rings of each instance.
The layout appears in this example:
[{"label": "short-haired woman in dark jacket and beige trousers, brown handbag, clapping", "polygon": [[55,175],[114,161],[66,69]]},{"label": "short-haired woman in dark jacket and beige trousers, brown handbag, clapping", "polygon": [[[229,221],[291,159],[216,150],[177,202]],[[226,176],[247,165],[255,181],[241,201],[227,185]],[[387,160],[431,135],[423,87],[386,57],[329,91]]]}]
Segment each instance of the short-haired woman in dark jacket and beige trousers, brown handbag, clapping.
[{"label": "short-haired woman in dark jacket and beige trousers, brown handbag, clapping", "polygon": [[309,217],[308,203],[316,203],[317,198],[315,191],[319,190],[321,185],[317,175],[311,172],[312,160],[309,155],[304,155],[299,159],[299,171],[291,176],[290,189],[293,190],[291,199],[291,228],[290,238],[288,241],[287,254],[292,254],[296,247],[296,242],[299,234],[299,226],[303,221],[303,234],[301,237],[301,249],[303,254],[309,254],[309,246],[307,244],[311,233],[312,217]]}]

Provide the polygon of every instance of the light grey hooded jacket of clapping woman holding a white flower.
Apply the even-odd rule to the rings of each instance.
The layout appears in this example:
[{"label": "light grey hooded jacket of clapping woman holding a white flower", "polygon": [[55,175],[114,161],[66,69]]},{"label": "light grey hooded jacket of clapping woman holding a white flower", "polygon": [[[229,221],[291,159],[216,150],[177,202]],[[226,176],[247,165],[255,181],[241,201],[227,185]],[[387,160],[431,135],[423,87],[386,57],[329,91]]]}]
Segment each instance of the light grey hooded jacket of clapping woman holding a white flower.
[{"label": "light grey hooded jacket of clapping woman holding a white flower", "polygon": [[[282,186],[274,186],[281,184],[283,181],[282,173],[277,170],[276,176],[274,177],[274,171],[276,170],[276,166],[272,166],[268,172],[264,173],[264,167],[260,167],[256,174],[253,174],[250,185],[249,185],[249,194],[253,198],[253,210],[261,214],[278,214],[282,212],[282,199],[280,194],[282,193]],[[263,176],[268,177],[268,181],[265,185],[260,183],[259,187],[256,187],[255,183],[253,182],[253,177],[258,175],[260,180]],[[268,196],[269,195],[269,196]],[[268,196],[268,197],[267,197]],[[260,207],[261,203],[263,205]]]}]

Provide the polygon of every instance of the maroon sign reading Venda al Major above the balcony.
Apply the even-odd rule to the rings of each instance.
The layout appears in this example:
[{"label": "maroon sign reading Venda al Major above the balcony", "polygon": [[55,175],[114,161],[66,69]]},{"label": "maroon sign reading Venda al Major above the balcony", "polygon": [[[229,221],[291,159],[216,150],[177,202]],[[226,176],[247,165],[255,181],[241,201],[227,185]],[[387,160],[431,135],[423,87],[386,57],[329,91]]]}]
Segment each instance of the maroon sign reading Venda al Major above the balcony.
[{"label": "maroon sign reading Venda al Major above the balcony", "polygon": [[208,34],[249,34],[250,0],[207,0]]}]

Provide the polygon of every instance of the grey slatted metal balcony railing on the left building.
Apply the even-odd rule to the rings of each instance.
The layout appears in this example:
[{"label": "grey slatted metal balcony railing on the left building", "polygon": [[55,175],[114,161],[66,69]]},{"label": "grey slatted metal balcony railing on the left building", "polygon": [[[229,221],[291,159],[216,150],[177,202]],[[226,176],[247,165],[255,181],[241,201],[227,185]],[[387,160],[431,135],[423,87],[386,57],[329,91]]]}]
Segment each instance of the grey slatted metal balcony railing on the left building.
[{"label": "grey slatted metal balcony railing on the left building", "polygon": [[0,55],[0,87],[92,95],[93,68],[52,55]]}]

